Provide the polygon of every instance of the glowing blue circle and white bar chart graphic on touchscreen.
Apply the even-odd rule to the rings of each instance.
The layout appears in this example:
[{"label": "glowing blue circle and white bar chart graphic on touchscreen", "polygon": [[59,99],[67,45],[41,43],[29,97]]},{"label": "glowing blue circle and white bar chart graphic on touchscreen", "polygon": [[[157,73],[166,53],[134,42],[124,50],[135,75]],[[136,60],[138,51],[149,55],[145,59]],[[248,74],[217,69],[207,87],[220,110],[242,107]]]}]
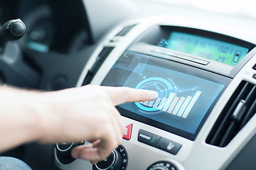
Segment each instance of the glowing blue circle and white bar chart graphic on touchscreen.
[{"label": "glowing blue circle and white bar chart graphic on touchscreen", "polygon": [[151,77],[139,82],[136,89],[154,90],[159,93],[159,98],[154,101],[136,102],[143,111],[164,111],[181,118],[187,118],[202,92],[197,87],[181,90],[166,79]]}]

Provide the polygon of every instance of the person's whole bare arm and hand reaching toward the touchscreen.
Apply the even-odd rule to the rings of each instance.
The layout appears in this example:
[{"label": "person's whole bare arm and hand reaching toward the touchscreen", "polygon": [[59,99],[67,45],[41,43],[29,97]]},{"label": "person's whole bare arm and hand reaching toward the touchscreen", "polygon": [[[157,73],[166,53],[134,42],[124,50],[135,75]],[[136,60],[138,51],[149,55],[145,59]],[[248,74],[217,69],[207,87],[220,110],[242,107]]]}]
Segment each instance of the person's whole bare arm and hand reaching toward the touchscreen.
[{"label": "person's whole bare arm and hand reaching toward the touchscreen", "polygon": [[54,92],[0,86],[0,152],[26,142],[95,141],[73,157],[93,162],[121,144],[125,126],[114,106],[151,101],[154,91],[87,85]]}]

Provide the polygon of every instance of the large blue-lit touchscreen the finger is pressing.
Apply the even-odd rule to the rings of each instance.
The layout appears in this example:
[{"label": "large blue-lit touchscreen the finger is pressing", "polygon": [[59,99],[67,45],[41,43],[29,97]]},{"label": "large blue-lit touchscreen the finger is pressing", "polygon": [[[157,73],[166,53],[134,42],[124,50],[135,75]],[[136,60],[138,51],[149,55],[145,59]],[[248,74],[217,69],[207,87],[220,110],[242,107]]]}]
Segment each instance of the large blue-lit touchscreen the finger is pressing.
[{"label": "large blue-lit touchscreen the finger is pressing", "polygon": [[117,108],[134,120],[184,137],[193,136],[224,85],[178,72],[169,62],[125,51],[102,85],[157,91],[159,98],[155,101],[124,103]]}]

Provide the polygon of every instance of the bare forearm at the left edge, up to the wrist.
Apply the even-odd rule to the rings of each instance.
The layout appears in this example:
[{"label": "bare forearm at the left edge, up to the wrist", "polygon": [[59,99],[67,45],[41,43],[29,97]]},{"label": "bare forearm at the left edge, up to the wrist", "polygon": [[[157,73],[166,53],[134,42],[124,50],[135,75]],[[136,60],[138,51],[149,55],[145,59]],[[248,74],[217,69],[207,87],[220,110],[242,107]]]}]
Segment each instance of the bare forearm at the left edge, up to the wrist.
[{"label": "bare forearm at the left edge, up to the wrist", "polygon": [[0,152],[40,138],[43,114],[35,93],[0,86]]}]

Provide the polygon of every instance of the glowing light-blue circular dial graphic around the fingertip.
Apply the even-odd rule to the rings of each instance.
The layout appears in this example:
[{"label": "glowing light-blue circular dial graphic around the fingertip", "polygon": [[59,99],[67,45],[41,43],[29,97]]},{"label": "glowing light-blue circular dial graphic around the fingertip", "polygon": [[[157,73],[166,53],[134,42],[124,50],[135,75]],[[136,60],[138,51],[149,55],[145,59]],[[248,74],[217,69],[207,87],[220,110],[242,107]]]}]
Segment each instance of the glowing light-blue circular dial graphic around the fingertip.
[{"label": "glowing light-blue circular dial graphic around the fingertip", "polygon": [[[146,90],[153,90],[157,91],[159,94],[159,98],[168,98],[169,90],[174,89],[174,86],[171,85],[169,81],[160,77],[151,77],[148,79],[144,79],[143,81],[139,82],[135,89],[146,89]],[[151,106],[146,106],[142,102],[135,102],[135,104],[142,109],[143,111],[159,111],[156,107],[154,107],[154,102],[151,101]]]}]

